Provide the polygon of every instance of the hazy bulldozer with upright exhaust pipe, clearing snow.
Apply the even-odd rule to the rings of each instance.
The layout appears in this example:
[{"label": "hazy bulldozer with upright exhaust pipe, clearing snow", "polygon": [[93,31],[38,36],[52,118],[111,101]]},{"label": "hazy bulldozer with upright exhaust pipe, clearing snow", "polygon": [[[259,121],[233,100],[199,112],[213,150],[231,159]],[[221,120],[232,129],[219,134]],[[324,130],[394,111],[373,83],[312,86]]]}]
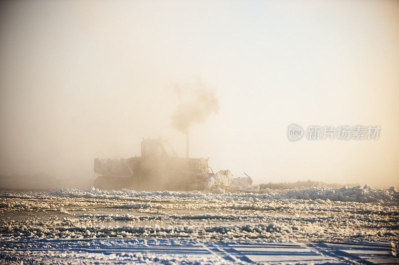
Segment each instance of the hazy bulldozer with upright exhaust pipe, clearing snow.
[{"label": "hazy bulldozer with upright exhaust pipe, clearing snow", "polygon": [[[200,190],[212,174],[208,158],[178,157],[169,138],[143,138],[141,156],[120,159],[94,159],[99,174],[94,186],[103,190]],[[210,170],[212,170],[210,168]],[[213,173],[213,172],[212,172]]]}]

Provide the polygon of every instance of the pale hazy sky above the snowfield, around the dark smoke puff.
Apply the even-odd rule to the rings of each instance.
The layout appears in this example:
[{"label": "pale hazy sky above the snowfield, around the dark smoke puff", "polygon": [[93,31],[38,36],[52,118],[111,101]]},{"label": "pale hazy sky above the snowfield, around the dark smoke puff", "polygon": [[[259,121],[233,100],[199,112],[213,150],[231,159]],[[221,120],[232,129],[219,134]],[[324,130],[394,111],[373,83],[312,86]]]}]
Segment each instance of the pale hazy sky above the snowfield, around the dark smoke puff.
[{"label": "pale hazy sky above the snowfield, around the dark smoke puff", "polygon": [[[1,1],[0,172],[93,177],[171,126],[175,87],[219,111],[191,156],[255,183],[399,186],[399,1]],[[288,125],[379,125],[380,139],[290,142]]]}]

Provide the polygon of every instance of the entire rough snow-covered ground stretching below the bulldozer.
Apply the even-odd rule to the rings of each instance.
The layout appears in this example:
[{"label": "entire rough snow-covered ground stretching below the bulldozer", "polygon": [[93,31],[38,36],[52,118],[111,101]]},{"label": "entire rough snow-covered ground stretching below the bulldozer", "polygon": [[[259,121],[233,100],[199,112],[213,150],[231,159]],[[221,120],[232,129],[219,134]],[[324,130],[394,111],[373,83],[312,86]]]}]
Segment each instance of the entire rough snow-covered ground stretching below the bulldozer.
[{"label": "entire rough snow-covered ground stretching below the bulldozer", "polygon": [[399,192],[0,192],[0,263],[398,263]]}]

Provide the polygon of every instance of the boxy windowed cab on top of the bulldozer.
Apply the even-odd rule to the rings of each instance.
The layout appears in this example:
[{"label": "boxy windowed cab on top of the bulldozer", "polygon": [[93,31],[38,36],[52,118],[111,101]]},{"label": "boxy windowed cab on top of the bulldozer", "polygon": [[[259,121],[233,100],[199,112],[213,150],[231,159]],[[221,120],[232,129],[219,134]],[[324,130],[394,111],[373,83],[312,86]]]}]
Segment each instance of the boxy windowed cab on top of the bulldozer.
[{"label": "boxy windowed cab on top of the bulldozer", "polygon": [[177,157],[172,144],[167,139],[144,139],[141,141],[142,157],[160,157],[171,158]]}]

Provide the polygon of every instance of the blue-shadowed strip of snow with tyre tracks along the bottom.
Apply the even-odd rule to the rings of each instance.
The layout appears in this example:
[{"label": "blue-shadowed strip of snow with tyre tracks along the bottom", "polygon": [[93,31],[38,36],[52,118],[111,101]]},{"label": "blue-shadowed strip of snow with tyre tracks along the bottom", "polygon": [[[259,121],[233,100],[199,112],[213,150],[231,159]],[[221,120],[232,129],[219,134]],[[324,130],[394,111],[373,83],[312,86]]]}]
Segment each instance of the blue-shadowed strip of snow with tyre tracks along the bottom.
[{"label": "blue-shadowed strip of snow with tyre tracks along the bottom", "polygon": [[392,245],[225,242],[192,239],[20,240],[3,242],[3,261],[48,264],[397,264]]}]

